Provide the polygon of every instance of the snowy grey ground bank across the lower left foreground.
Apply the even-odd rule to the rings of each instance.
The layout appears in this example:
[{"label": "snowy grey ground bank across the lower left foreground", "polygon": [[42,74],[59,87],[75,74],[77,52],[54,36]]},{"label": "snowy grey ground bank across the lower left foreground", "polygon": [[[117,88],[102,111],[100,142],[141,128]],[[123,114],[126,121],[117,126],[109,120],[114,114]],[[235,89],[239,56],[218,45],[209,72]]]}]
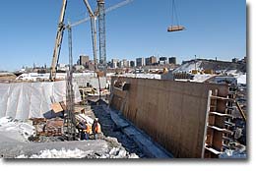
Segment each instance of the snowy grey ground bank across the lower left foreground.
[{"label": "snowy grey ground bank across the lower left foreground", "polygon": [[[35,129],[12,117],[0,118],[0,156],[3,158],[138,158],[115,138],[71,142],[30,142]],[[113,150],[114,148],[114,150]]]}]

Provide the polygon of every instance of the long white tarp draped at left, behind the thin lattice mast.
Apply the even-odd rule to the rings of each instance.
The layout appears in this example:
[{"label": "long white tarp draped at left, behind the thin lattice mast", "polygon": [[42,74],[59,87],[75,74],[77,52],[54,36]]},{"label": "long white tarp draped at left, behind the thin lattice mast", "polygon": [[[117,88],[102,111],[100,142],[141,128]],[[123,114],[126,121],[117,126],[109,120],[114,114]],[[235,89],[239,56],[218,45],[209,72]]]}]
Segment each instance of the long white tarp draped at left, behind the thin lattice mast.
[{"label": "long white tarp draped at left, behind the thin lattice mast", "polygon": [[[75,102],[81,101],[74,85]],[[0,118],[42,118],[51,113],[51,104],[66,100],[66,82],[0,84]]]}]

